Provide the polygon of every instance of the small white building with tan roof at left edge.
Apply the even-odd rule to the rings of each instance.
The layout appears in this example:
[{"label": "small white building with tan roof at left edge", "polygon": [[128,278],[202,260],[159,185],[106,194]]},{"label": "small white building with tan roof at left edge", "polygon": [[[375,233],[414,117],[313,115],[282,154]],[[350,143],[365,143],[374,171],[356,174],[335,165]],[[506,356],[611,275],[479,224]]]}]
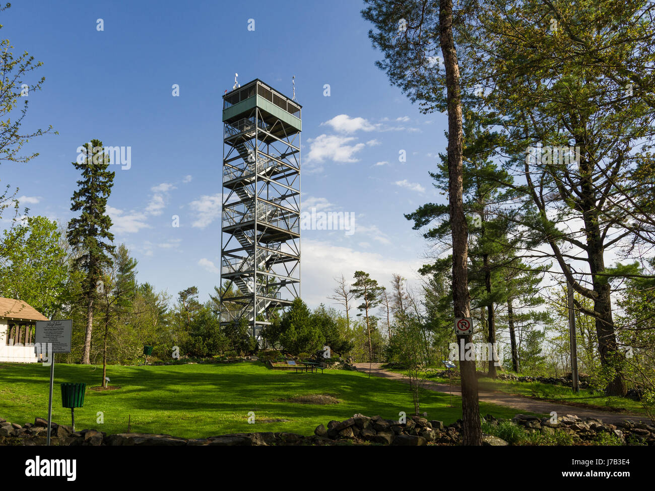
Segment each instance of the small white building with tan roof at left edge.
[{"label": "small white building with tan roof at left edge", "polygon": [[35,325],[47,320],[27,302],[0,297],[0,361],[36,363]]}]

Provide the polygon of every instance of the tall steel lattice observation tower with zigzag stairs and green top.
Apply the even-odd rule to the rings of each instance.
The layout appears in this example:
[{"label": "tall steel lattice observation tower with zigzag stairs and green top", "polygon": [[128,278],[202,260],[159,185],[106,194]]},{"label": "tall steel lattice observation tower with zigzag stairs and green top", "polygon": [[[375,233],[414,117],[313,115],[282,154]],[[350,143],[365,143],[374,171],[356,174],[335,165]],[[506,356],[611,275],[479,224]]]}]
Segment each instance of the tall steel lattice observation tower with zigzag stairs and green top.
[{"label": "tall steel lattice observation tower with zigzag stairs and green top", "polygon": [[223,96],[220,320],[255,338],[300,296],[301,107],[259,79]]}]

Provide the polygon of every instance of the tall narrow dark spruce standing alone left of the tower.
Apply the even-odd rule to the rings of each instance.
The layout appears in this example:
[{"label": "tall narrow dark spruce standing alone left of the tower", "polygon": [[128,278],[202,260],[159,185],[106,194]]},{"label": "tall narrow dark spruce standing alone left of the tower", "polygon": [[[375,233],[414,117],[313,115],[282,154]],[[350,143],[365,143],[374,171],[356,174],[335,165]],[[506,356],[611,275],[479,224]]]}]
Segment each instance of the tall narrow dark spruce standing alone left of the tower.
[{"label": "tall narrow dark spruce standing alone left of the tower", "polygon": [[73,193],[71,211],[81,211],[81,215],[68,223],[68,242],[80,253],[75,266],[86,276],[83,280],[83,294],[86,302],[86,334],[82,363],[90,363],[91,334],[93,331],[94,300],[104,289],[103,268],[111,268],[111,255],[115,246],[114,236],[109,232],[111,219],[106,214],[107,198],[113,186],[114,172],[109,172],[109,156],[105,154],[102,141],[93,139],[82,147],[82,163],[73,162],[76,170],[82,171],[82,179],[77,181],[79,188]]}]

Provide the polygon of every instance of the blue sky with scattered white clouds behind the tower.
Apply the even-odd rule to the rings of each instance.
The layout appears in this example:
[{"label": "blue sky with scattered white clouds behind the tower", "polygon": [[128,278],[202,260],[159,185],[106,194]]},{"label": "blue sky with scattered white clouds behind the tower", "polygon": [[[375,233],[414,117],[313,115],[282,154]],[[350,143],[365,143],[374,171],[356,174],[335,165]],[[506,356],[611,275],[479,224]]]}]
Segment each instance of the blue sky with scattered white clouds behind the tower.
[{"label": "blue sky with scattered white clouds behind the tower", "polygon": [[[0,165],[0,185],[19,187],[31,215],[63,223],[79,178],[77,147],[97,138],[131,147],[114,166],[109,214],[117,244],[138,259],[138,280],[176,296],[219,282],[222,100],[234,73],[259,78],[303,105],[303,209],[353,212],[354,234],[303,230],[302,297],[316,306],[333,277],[362,269],[384,285],[410,280],[425,242],[403,217],[443,201],[428,176],[445,148],[446,118],[421,115],[375,60],[356,1],[16,1],[0,36],[43,62],[23,128],[28,164]],[[97,20],[103,20],[98,31]],[[254,20],[254,31],[248,20]],[[172,85],[179,84],[179,97]],[[330,96],[324,96],[329,84]],[[406,162],[399,161],[404,150]],[[179,215],[179,228],[172,227]],[[6,223],[4,224],[6,226]]]}]

